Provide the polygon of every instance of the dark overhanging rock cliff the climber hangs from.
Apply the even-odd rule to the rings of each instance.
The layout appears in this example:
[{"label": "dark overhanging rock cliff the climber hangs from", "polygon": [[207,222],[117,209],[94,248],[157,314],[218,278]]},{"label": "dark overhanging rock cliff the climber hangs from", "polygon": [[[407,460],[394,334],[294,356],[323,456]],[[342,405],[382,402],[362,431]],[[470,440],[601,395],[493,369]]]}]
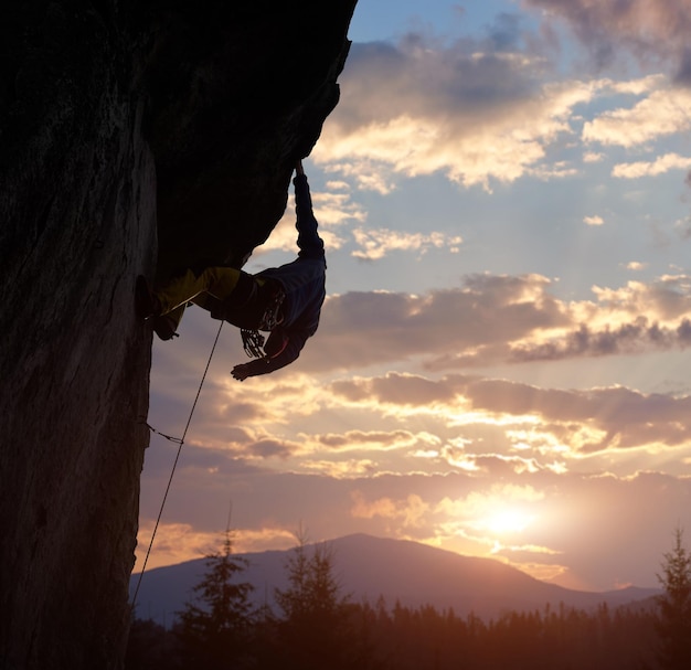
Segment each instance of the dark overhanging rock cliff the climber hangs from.
[{"label": "dark overhanging rock cliff the climber hangs from", "polygon": [[135,277],[266,240],[354,4],[0,9],[0,668],[121,667],[149,439]]}]

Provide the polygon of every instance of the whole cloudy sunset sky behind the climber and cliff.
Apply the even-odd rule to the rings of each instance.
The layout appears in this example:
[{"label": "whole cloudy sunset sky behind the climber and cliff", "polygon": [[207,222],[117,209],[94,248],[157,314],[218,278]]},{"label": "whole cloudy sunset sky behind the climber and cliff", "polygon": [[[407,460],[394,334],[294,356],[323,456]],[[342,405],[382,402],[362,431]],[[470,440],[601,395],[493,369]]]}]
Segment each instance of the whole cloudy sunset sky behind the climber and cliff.
[{"label": "whole cloudy sunset sky behind the climber and cliff", "polygon": [[[225,325],[147,568],[369,533],[570,588],[691,540],[691,0],[360,0],[305,169],[321,323],[240,383]],[[245,269],[295,258],[286,214]],[[183,434],[219,322],[155,341]],[[178,444],[152,433],[141,570]]]}]

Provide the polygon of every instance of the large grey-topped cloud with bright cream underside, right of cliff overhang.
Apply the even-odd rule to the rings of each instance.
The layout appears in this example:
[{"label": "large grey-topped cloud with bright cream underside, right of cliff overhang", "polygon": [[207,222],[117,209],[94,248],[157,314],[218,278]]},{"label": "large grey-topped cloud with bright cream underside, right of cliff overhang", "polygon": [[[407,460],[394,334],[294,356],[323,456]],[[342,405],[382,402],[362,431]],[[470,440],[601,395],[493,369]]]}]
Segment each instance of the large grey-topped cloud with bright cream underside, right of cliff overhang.
[{"label": "large grey-topped cloud with bright cream underside, right of cliff overhang", "polygon": [[373,177],[382,171],[442,171],[486,189],[490,179],[515,181],[538,168],[551,142],[573,132],[573,107],[595,94],[581,82],[539,83],[542,70],[540,61],[498,44],[354,44],[341,103],[313,159],[331,170],[355,164],[374,183],[386,183]]}]

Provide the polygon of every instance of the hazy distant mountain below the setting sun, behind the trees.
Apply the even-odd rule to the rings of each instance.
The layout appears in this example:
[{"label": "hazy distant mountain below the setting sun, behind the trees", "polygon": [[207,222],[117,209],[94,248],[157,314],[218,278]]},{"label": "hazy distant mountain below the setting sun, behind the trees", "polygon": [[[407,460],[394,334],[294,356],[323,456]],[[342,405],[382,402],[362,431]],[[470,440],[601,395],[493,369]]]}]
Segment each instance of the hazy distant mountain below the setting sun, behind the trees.
[{"label": "hazy distant mountain below the setting sun, behind the trees", "polygon": [[[351,599],[374,604],[382,596],[387,606],[396,600],[412,607],[453,607],[466,616],[496,617],[506,610],[525,611],[567,607],[591,609],[600,603],[617,607],[644,600],[659,593],[653,588],[629,587],[604,593],[581,592],[541,582],[495,561],[461,556],[454,552],[405,540],[354,534],[329,541],[334,572]],[[293,550],[238,554],[248,562],[241,579],[255,586],[257,604],[273,605],[275,588],[285,588],[285,563]],[[309,547],[308,547],[308,551]],[[170,626],[176,613],[194,597],[192,588],[205,572],[205,559],[148,571],[137,597],[137,616]],[[130,581],[130,597],[139,579]]]}]

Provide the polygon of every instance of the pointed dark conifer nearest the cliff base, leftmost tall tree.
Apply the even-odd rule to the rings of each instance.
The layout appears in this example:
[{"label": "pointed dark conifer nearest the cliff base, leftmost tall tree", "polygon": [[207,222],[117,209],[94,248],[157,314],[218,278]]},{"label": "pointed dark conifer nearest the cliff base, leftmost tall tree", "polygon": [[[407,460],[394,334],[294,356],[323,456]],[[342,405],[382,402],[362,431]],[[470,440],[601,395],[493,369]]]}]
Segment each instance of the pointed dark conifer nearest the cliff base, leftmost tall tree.
[{"label": "pointed dark conifer nearest the cliff base, leftmost tall tree", "polygon": [[222,551],[206,556],[206,572],[194,586],[196,604],[187,603],[176,630],[183,655],[209,670],[238,667],[248,652],[254,626],[247,582],[236,582],[247,561],[232,555],[232,533],[225,531]]}]

